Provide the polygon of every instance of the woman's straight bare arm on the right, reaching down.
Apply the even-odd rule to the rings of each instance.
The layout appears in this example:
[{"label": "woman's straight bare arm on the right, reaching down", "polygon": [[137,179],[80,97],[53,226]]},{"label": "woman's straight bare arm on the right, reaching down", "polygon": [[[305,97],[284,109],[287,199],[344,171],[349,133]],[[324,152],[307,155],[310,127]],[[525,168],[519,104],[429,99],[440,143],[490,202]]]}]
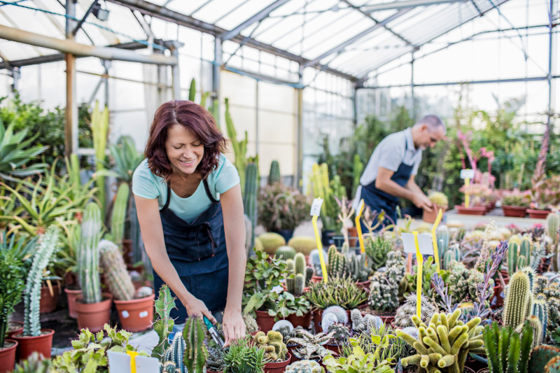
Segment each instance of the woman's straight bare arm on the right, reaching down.
[{"label": "woman's straight bare arm on the right, reaching down", "polygon": [[223,315],[225,344],[245,336],[245,323],[241,317],[241,297],[245,279],[245,219],[243,199],[239,184],[220,195],[225,231],[225,245],[228,250],[230,273],[228,276],[228,300]]}]

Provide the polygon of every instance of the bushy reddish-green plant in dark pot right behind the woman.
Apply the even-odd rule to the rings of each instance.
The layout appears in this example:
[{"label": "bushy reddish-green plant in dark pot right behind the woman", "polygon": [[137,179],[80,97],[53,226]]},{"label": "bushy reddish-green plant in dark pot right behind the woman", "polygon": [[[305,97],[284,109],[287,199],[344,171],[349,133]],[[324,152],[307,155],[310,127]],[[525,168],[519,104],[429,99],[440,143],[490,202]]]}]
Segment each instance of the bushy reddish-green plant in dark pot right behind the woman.
[{"label": "bushy reddish-green plant in dark pot right behind the woman", "polygon": [[258,196],[258,221],[268,232],[276,232],[289,241],[293,230],[309,216],[307,197],[281,183],[266,185]]}]

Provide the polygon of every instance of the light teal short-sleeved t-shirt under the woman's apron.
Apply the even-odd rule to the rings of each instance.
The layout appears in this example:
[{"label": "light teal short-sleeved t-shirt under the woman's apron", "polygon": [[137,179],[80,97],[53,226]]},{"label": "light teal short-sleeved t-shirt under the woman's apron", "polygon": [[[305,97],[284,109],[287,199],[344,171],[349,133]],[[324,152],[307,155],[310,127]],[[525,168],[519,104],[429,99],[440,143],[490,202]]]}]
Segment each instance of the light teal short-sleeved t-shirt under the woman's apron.
[{"label": "light teal short-sleeved t-shirt under the woman's apron", "polygon": [[[207,180],[210,192],[215,199],[220,199],[221,193],[227,192],[240,182],[237,169],[223,154],[220,154],[218,166],[208,174]],[[152,174],[152,171],[148,168],[147,158],[134,170],[132,192],[134,195],[143,198],[157,198],[160,209],[167,201],[167,184],[163,178]],[[206,190],[204,190],[204,183],[201,181],[197,190],[190,197],[181,198],[172,190],[169,209],[179,218],[191,223],[197,216],[206,211],[211,203]]]}]

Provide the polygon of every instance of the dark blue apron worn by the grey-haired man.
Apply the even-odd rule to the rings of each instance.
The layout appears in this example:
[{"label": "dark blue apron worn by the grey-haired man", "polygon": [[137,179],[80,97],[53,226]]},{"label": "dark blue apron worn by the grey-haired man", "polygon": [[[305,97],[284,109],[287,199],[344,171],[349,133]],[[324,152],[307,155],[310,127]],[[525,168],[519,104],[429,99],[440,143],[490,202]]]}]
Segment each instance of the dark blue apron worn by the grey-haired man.
[{"label": "dark blue apron worn by the grey-haired man", "polygon": [[[405,151],[407,148],[408,144],[406,145]],[[401,162],[397,171],[395,171],[393,176],[391,176],[391,180],[404,188],[404,186],[407,185],[409,181],[413,168],[414,164],[409,166],[408,164]],[[393,220],[393,223],[397,223],[398,197],[390,195],[387,192],[376,188],[375,180],[367,185],[362,185],[362,192],[360,197],[363,198],[363,202],[367,206],[370,206],[370,209],[372,209],[372,211],[377,211],[378,213],[381,213],[381,211],[385,211],[386,218],[383,222],[384,225],[392,224],[391,220]],[[387,217],[391,218],[391,220],[388,220]],[[377,230],[380,229],[381,225],[377,227]],[[363,223],[362,230],[365,230],[365,225],[363,225]]]}]

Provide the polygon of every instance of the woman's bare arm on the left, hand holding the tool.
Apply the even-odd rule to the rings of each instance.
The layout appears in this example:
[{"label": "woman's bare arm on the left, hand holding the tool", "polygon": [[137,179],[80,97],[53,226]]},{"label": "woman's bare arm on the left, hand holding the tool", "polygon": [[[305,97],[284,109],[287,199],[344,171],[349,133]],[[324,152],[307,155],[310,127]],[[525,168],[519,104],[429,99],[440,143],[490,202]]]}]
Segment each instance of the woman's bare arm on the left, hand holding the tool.
[{"label": "woman's bare arm on the left, hand holding the tool", "polygon": [[[216,319],[204,305],[204,302],[188,292],[175,267],[173,267],[171,260],[169,260],[163,239],[158,199],[148,199],[134,195],[134,201],[136,202],[142,241],[144,241],[146,253],[150,257],[155,272],[179,297],[179,300],[187,309],[187,314],[204,315],[210,321],[216,323]],[[241,206],[242,208],[243,206]]]}]

